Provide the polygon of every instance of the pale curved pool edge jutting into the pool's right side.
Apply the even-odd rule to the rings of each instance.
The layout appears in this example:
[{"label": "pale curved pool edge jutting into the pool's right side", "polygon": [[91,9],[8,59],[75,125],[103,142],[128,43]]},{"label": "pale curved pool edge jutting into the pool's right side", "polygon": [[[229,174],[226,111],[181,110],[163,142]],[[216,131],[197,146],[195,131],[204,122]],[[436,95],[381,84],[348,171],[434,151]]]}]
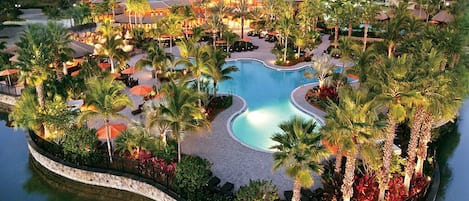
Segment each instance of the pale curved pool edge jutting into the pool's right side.
[{"label": "pale curved pool edge jutting into the pool's right side", "polygon": [[308,83],[301,85],[290,93],[290,102],[300,111],[312,116],[320,125],[324,125],[326,113],[312,106],[305,100],[307,90],[317,86],[319,83]]}]

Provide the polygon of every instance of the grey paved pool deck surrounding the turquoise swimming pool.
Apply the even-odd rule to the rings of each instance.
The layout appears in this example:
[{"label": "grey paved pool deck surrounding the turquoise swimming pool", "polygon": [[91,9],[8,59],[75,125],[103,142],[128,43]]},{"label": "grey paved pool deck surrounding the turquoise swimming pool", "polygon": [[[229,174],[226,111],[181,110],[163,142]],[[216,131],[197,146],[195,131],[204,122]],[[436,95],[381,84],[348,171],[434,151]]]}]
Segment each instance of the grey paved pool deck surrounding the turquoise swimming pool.
[{"label": "grey paved pool deck surrounding the turquoise swimming pool", "polygon": [[[322,54],[329,46],[328,37],[329,35],[322,36],[323,43],[313,50],[314,54]],[[259,49],[252,52],[232,53],[231,58],[227,60],[254,59],[276,70],[293,70],[310,65],[310,62],[289,67],[274,65],[275,55],[270,53],[273,43],[265,42],[257,37],[252,38],[252,42],[258,45]],[[340,62],[335,59],[334,63],[338,65]],[[292,92],[290,98],[300,110],[314,114],[313,116],[323,122],[325,113],[305,100],[306,92],[311,87],[310,84],[300,86]],[[247,107],[240,97],[233,97],[233,105],[218,114],[212,122],[211,132],[189,133],[185,136],[181,149],[186,154],[201,156],[212,162],[212,171],[222,183],[231,182],[235,184],[235,189],[238,189],[242,185],[249,184],[250,179],[271,180],[277,186],[280,196],[283,197],[283,191],[292,189],[293,180],[285,175],[284,169],[273,172],[272,153],[252,149],[232,137],[231,120]],[[320,177],[317,175],[314,177],[315,185],[312,189],[321,186]]]}]

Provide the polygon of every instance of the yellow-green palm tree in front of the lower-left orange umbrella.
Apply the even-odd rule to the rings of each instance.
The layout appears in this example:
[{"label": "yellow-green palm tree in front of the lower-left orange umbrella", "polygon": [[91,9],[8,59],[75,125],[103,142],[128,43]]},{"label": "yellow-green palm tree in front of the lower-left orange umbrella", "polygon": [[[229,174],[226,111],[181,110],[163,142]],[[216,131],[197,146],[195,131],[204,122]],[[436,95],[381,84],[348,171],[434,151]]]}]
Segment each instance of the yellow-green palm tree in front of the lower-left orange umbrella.
[{"label": "yellow-green palm tree in front of the lower-left orange umbrella", "polygon": [[112,163],[109,122],[115,118],[127,119],[125,115],[119,114],[116,111],[122,107],[132,106],[132,101],[127,95],[121,93],[125,89],[124,83],[115,81],[112,76],[89,79],[87,86],[86,103],[94,106],[94,109],[82,112],[78,116],[77,121],[79,124],[82,124],[84,121],[95,117],[104,120],[109,161]]}]

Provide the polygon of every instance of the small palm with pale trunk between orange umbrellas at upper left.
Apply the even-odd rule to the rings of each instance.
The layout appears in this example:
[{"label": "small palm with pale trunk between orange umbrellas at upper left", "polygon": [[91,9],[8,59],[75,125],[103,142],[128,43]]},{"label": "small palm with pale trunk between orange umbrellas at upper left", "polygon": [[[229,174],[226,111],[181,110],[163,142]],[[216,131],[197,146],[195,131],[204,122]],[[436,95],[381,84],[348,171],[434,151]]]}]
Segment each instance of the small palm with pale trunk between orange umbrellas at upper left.
[{"label": "small palm with pale trunk between orange umbrellas at upper left", "polygon": [[121,38],[106,37],[102,47],[98,50],[100,55],[107,56],[111,62],[111,73],[115,73],[114,59],[125,60],[128,55],[122,50],[124,42]]}]

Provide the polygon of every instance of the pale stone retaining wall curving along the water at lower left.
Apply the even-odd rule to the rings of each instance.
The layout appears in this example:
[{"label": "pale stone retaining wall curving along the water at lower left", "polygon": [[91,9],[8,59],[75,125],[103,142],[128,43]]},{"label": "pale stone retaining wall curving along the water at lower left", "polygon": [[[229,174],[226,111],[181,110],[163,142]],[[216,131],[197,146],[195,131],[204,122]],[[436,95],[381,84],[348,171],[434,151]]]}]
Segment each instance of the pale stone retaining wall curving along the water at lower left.
[{"label": "pale stone retaining wall curving along the water at lower left", "polygon": [[58,163],[39,153],[34,148],[35,146],[32,145],[29,136],[27,136],[27,138],[28,148],[34,160],[36,160],[44,168],[60,176],[85,184],[129,191],[156,201],[176,201],[176,199],[166,194],[162,190],[141,181],[130,179],[124,176],[112,175],[109,173],[92,172],[72,168],[64,164]]}]

